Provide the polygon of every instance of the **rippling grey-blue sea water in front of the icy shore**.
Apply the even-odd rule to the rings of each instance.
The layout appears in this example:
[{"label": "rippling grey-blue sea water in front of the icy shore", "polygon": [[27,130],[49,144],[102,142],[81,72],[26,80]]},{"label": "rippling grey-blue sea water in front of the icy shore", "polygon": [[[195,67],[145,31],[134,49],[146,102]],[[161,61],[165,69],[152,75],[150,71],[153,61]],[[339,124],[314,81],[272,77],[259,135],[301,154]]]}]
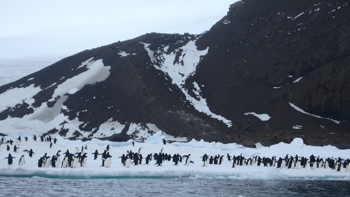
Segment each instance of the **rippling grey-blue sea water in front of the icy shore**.
[{"label": "rippling grey-blue sea water in front of the icy shore", "polygon": [[2,196],[350,196],[343,180],[0,177]]}]

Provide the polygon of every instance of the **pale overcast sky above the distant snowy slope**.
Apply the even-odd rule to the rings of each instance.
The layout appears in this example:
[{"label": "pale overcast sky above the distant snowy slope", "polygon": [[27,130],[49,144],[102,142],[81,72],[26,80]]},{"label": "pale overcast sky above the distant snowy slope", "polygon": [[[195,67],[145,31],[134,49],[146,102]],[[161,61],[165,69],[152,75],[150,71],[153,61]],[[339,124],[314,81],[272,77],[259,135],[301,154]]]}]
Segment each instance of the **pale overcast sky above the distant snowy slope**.
[{"label": "pale overcast sky above the distant snowy slope", "polygon": [[171,22],[227,12],[229,0],[2,1],[0,36],[86,24]]}]

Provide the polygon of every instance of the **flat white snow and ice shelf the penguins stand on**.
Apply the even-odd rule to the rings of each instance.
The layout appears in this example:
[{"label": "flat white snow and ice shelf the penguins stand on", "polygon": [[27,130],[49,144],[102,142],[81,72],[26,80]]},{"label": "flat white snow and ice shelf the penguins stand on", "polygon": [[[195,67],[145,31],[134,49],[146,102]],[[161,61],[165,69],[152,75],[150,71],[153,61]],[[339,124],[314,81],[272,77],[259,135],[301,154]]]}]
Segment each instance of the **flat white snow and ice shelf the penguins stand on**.
[{"label": "flat white snow and ice shelf the penguins stand on", "polygon": [[[17,136],[18,137],[18,136]],[[63,178],[63,179],[97,179],[97,178],[170,178],[170,177],[191,177],[191,178],[228,178],[228,179],[254,179],[254,180],[350,180],[350,172],[346,172],[345,168],[341,169],[341,172],[336,172],[330,168],[316,168],[311,170],[309,166],[306,168],[276,168],[276,166],[264,167],[253,165],[242,165],[232,167],[232,161],[228,161],[226,158],[227,153],[231,156],[240,155],[248,157],[254,157],[256,155],[260,157],[272,157],[276,156],[285,157],[286,154],[295,155],[299,157],[309,157],[314,154],[316,157],[320,156],[323,159],[328,157],[347,159],[350,155],[350,150],[339,150],[333,146],[313,147],[307,146],[302,143],[302,139],[295,138],[291,144],[280,143],[271,147],[257,146],[257,148],[245,148],[237,144],[222,144],[222,143],[207,143],[203,140],[196,141],[191,140],[188,143],[171,143],[162,144],[162,139],[165,135],[161,131],[155,135],[149,137],[144,143],[135,142],[135,146],[132,146],[132,140],[128,142],[114,143],[109,141],[102,141],[93,139],[91,141],[82,142],[81,140],[70,141],[63,139],[60,136],[53,136],[58,139],[58,142],[49,148],[49,142],[38,142],[28,136],[28,142],[22,140],[19,151],[15,153],[13,151],[14,145],[9,145],[11,149],[6,150],[7,145],[1,145],[0,151],[0,176],[11,177],[45,177],[45,178]],[[6,136],[7,139],[15,138],[15,136]],[[38,167],[38,159],[47,153],[47,156],[52,156],[57,153],[58,150],[65,152],[69,150],[70,153],[74,153],[74,149],[81,148],[87,145],[88,149],[84,150],[87,154],[87,163],[85,167],[77,168],[53,168],[53,167]],[[101,156],[98,156],[96,160],[93,160],[93,153],[98,150],[102,153],[107,145],[110,145],[109,150],[112,156],[112,162],[110,167],[102,167]],[[164,153],[170,155],[179,153],[180,155],[191,154],[191,160],[194,163],[184,165],[184,161],[179,165],[173,165],[172,161],[164,161],[162,166],[155,165],[156,161],[152,160],[149,164],[145,164],[145,160],[142,160],[141,165],[130,166],[129,168],[121,164],[120,156],[126,154],[129,150],[137,152],[141,147],[141,154],[143,158],[150,153],[158,153],[163,148]],[[29,157],[25,149],[33,149],[35,153],[33,157]],[[7,159],[4,159],[11,154],[13,157],[13,164],[8,165]],[[202,156],[207,154],[209,157],[215,155],[223,155],[223,162],[220,165],[209,164],[207,167],[203,167]],[[26,164],[18,166],[18,160],[24,155]],[[61,155],[61,161],[63,156]]]}]

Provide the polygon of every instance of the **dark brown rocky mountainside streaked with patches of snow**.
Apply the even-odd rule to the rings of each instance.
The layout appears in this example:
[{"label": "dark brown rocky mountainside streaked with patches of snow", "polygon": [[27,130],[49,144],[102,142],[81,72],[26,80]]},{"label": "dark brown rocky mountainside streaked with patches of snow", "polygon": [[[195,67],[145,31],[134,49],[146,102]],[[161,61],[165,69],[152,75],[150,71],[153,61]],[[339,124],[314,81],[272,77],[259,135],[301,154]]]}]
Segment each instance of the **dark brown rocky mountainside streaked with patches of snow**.
[{"label": "dark brown rocky mountainside streaked with patches of snow", "polygon": [[246,0],[202,35],[85,50],[0,87],[1,98],[34,92],[0,108],[0,125],[20,118],[41,134],[115,141],[160,129],[223,143],[348,144],[349,11],[348,1]]}]

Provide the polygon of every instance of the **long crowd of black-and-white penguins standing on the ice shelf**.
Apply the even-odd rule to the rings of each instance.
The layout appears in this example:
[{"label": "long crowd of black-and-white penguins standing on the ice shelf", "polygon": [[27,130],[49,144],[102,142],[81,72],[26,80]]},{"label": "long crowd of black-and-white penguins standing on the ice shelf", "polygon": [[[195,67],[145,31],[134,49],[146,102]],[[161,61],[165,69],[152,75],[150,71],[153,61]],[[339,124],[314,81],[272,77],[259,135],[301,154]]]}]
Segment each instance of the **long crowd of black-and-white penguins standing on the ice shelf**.
[{"label": "long crowd of black-and-white penguins standing on the ice shelf", "polygon": [[[38,138],[34,135],[33,140],[36,141]],[[56,144],[58,141],[56,138],[52,139],[51,136],[39,136],[40,142],[48,142],[49,148],[52,148],[54,144]],[[24,137],[24,142],[28,141],[28,137]],[[21,136],[17,138],[16,144],[13,144],[14,141],[12,139],[6,140],[5,137],[2,137],[0,139],[0,151],[1,151],[1,145],[7,145],[7,151],[10,151],[10,146],[13,146],[13,154],[19,153],[20,145],[21,145]],[[161,142],[163,145],[166,145],[166,141],[163,139]],[[132,146],[134,146],[135,143],[132,142]],[[66,150],[64,153],[61,153],[61,150],[58,150],[55,155],[48,156],[47,153],[45,153],[43,156],[41,156],[38,159],[38,167],[61,167],[61,168],[76,168],[78,165],[80,167],[84,167],[87,162],[88,155],[93,155],[93,160],[97,160],[98,156],[101,155],[101,166],[102,167],[109,167],[111,165],[112,161],[112,155],[110,155],[109,150],[111,147],[107,145],[104,151],[101,151],[101,153],[98,153],[98,150],[95,150],[93,153],[87,153],[88,147],[87,145],[82,146],[81,148],[76,147],[74,150],[74,153],[70,153],[69,150]],[[30,150],[23,150],[22,152],[28,154],[30,158],[32,159],[33,154],[35,152]],[[140,165],[140,164],[154,164],[156,166],[162,166],[164,162],[172,162],[173,165],[179,165],[182,163],[183,165],[189,165],[191,163],[194,164],[193,161],[191,161],[191,154],[186,155],[180,155],[179,153],[170,154],[170,153],[164,153],[164,149],[161,148],[159,153],[149,153],[145,158],[143,158],[142,154],[142,148],[139,148],[137,152],[133,152],[132,150],[128,150],[126,153],[122,154],[118,158],[120,158],[120,164],[125,167],[130,167],[131,165]],[[21,155],[18,158],[18,165],[23,166],[26,164],[26,161],[24,159],[25,154]],[[228,160],[232,162],[232,167],[237,166],[263,166],[263,167],[276,167],[276,168],[311,168],[311,170],[315,170],[315,168],[331,168],[332,170],[335,170],[337,172],[340,171],[350,171],[350,159],[342,159],[340,157],[328,157],[328,158],[320,158],[319,156],[311,155],[309,157],[300,157],[298,155],[289,156],[288,154],[283,157],[277,159],[276,156],[269,157],[263,157],[256,155],[254,157],[244,157],[242,154],[238,156],[230,156],[229,153],[227,153],[227,156],[224,155],[214,155],[214,156],[208,156],[207,154],[203,155],[202,157],[203,161],[203,167],[207,167],[208,165],[220,165],[222,164],[223,160]],[[1,158],[0,158],[1,159]],[[16,157],[12,156],[11,153],[7,157],[4,158],[7,161],[8,165],[13,165],[13,159],[16,159]],[[62,159],[62,160],[61,160]],[[143,160],[144,159],[144,160]],[[153,161],[152,161],[153,160]],[[184,161],[184,162],[183,162]]]}]

